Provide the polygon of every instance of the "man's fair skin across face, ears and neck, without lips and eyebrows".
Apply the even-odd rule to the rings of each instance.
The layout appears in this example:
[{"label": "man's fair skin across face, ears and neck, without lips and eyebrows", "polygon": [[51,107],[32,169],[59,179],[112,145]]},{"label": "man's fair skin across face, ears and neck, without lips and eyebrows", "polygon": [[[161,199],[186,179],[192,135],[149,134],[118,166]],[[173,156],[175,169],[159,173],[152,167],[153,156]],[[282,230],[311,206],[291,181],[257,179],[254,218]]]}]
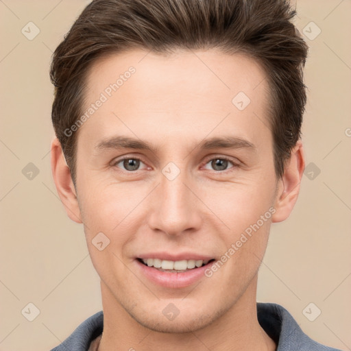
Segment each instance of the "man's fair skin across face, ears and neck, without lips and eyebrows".
[{"label": "man's fair skin across face, ears and neck, without lips and eyebrows", "polygon": [[[289,217],[298,197],[301,141],[277,179],[265,73],[251,58],[213,49],[176,51],[169,58],[133,49],[100,58],[88,75],[86,107],[130,66],[136,73],[79,130],[76,186],[58,139],[51,144],[58,194],[67,215],[84,224],[101,278],[99,351],[276,350],[258,324],[257,277],[271,223]],[[240,91],[251,99],[243,111],[232,104]],[[143,139],[158,150],[97,152],[97,143],[115,135]],[[197,147],[204,138],[228,135],[254,148]],[[121,156],[142,162],[128,171],[117,162]],[[221,157],[239,166],[228,162],[218,170],[214,162]],[[169,162],[180,169],[174,180],[162,174]],[[272,207],[274,215],[213,276],[189,287],[160,287],[136,265],[136,256],[161,250],[218,260]],[[92,244],[98,232],[110,239],[102,251]],[[169,303],[180,311],[172,321],[162,314]]]}]

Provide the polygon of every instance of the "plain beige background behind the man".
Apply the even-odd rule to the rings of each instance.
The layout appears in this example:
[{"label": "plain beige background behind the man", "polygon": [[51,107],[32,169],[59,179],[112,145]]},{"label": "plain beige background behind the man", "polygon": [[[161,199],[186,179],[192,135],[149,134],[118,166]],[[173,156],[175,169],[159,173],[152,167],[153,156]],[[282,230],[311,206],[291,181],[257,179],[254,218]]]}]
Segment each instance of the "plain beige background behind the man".
[{"label": "plain beige background behind the man", "polygon": [[[50,350],[101,310],[83,228],[64,212],[48,154],[51,53],[87,3],[0,0],[0,350]],[[351,350],[351,1],[297,5],[311,47],[306,164],[320,173],[304,175],[293,214],[273,226],[257,299],[285,306],[316,341]],[[33,40],[21,33],[29,21],[40,29]],[[322,30],[314,40],[311,21]],[[29,162],[32,180],[22,173]],[[40,310],[33,322],[21,313],[29,302]],[[322,311],[314,322],[302,313],[310,302]]]}]

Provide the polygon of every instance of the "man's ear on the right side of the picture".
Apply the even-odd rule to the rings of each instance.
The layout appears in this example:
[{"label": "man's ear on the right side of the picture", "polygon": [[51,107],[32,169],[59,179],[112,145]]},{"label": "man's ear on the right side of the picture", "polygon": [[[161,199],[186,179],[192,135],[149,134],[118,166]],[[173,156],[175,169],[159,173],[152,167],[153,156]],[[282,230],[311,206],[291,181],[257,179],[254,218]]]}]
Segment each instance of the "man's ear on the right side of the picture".
[{"label": "man's ear on the right side of the picture", "polygon": [[272,216],[272,222],[285,221],[293,210],[300,192],[300,182],[304,173],[305,161],[302,141],[298,141],[291,150],[291,156],[285,165],[282,178],[278,181],[276,194],[276,213]]}]

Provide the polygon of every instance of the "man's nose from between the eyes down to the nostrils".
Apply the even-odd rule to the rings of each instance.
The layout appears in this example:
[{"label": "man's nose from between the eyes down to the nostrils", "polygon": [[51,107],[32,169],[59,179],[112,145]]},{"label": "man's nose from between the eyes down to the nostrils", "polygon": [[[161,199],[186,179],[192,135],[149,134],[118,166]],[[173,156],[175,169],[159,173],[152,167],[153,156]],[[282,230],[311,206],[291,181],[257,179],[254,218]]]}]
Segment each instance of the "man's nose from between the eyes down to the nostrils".
[{"label": "man's nose from between the eyes down to the nostrils", "polygon": [[160,175],[160,185],[150,226],[169,235],[182,234],[184,230],[199,226],[199,209],[194,204],[193,194],[189,190],[189,179],[185,170],[170,162]]}]

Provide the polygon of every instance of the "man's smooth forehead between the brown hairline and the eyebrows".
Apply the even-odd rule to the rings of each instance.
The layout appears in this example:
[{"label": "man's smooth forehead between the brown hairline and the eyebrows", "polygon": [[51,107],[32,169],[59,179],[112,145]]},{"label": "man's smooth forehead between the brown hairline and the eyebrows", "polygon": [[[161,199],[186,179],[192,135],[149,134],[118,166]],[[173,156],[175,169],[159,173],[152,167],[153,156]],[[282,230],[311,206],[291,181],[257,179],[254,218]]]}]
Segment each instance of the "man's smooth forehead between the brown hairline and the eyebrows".
[{"label": "man's smooth forehead between the brown hairline and the eyebrows", "polygon": [[115,126],[130,136],[171,140],[175,134],[206,136],[235,125],[236,132],[250,139],[257,128],[268,125],[265,72],[242,54],[178,50],[166,57],[141,49],[113,53],[94,62],[86,86],[84,112],[104,96],[82,126],[95,136],[111,134]]}]

